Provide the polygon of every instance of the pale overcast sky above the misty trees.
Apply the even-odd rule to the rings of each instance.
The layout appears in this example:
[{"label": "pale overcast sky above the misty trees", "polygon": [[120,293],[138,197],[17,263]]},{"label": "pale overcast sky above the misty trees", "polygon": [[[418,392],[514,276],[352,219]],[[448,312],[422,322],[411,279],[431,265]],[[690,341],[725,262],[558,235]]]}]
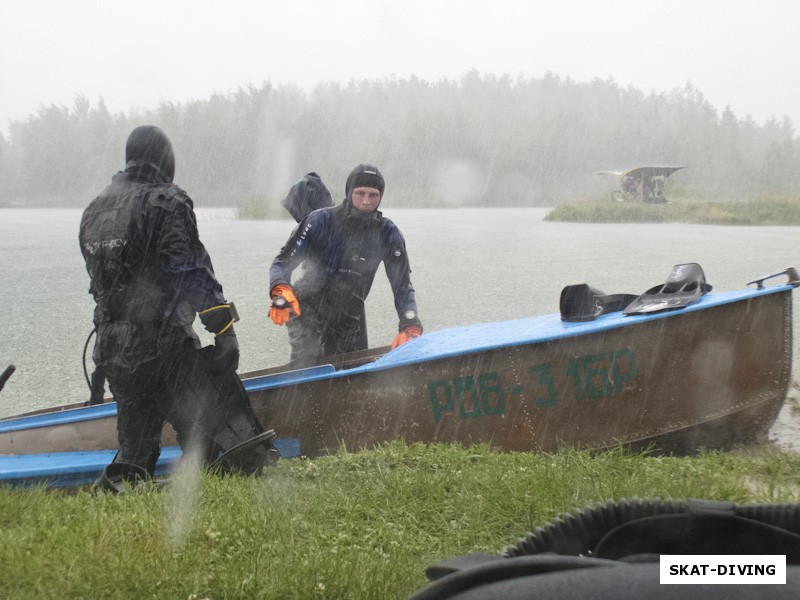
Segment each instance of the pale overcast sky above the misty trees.
[{"label": "pale overcast sky above the misty trees", "polygon": [[0,0],[0,131],[83,94],[112,112],[352,78],[550,71],[800,128],[798,0]]}]

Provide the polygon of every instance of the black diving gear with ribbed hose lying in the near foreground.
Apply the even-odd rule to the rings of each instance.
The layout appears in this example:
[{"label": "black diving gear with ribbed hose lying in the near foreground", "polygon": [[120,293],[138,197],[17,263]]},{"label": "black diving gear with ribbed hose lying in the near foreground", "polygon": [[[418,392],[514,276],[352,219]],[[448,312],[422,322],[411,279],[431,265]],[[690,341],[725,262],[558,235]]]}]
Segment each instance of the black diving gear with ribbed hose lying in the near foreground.
[{"label": "black diving gear with ribbed hose lying in the near foreground", "polygon": [[[662,585],[660,555],[785,555],[785,585]],[[775,600],[800,590],[800,504],[610,501],[537,528],[504,556],[466,554],[426,570],[410,600]]]}]

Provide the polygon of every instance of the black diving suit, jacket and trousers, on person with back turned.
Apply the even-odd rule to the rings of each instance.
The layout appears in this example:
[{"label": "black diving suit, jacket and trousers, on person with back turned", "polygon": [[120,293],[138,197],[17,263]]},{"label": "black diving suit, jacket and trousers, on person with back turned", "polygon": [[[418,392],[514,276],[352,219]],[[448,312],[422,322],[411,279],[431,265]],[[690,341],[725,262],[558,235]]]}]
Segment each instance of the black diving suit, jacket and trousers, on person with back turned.
[{"label": "black diving suit, jacket and trousers, on person with back turned", "polygon": [[171,379],[200,347],[195,313],[225,304],[192,201],[170,179],[149,162],[129,162],[86,208],[79,234],[96,301],[93,357],[118,403],[117,460],[151,474],[165,420],[187,441]]}]

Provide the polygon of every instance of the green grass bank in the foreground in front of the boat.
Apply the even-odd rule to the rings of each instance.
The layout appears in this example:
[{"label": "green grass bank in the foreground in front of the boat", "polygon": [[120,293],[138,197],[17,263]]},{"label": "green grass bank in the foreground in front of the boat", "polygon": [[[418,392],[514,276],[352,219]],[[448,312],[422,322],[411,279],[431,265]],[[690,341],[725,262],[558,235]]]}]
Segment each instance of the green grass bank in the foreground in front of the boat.
[{"label": "green grass bank in the foreground in front of the boat", "polygon": [[0,489],[3,598],[405,598],[607,499],[800,500],[800,456],[498,453],[392,443],[119,496]]}]

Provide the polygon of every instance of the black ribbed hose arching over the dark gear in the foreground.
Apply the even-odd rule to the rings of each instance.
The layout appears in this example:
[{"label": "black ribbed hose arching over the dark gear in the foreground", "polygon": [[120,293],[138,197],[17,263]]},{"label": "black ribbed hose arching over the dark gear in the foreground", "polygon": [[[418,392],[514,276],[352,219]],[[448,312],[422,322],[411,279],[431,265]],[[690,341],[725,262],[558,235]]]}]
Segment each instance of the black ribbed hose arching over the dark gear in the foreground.
[{"label": "black ribbed hose arching over the dark gear in the foreground", "polygon": [[685,502],[660,498],[622,498],[604,505],[563,513],[527,533],[509,546],[504,556],[513,558],[552,552],[591,555],[603,536],[624,523],[644,517],[672,514],[720,514],[759,521],[800,535],[800,504],[736,505],[731,502],[689,499]]}]

